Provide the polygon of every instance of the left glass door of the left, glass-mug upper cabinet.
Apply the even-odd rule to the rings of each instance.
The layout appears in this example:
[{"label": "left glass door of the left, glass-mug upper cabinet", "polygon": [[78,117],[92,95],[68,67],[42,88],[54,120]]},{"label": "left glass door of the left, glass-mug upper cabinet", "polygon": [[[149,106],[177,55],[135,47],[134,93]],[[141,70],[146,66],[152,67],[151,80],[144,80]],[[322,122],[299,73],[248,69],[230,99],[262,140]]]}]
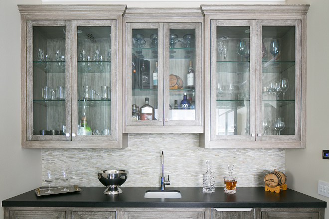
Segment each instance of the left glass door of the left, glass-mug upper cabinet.
[{"label": "left glass door of the left, glass-mug upper cabinet", "polygon": [[71,140],[70,23],[27,21],[27,140]]}]

